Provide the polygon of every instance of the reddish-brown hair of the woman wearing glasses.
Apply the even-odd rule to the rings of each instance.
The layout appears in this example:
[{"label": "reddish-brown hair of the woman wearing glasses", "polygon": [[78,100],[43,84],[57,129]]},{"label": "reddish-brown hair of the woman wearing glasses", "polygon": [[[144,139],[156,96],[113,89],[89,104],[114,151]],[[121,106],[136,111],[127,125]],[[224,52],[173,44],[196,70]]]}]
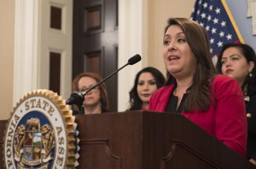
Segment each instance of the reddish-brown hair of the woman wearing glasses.
[{"label": "reddish-brown hair of the woman wearing glasses", "polygon": [[[86,72],[86,73],[79,74],[78,76],[76,76],[76,78],[74,78],[74,80],[72,82],[72,92],[78,91],[78,82],[83,77],[93,78],[94,80],[96,80],[96,82],[100,82],[102,80],[102,78],[94,72]],[[107,86],[106,86],[105,82],[103,82],[98,87],[100,89],[101,106],[103,109],[107,110],[109,108],[109,98],[107,95]]]}]

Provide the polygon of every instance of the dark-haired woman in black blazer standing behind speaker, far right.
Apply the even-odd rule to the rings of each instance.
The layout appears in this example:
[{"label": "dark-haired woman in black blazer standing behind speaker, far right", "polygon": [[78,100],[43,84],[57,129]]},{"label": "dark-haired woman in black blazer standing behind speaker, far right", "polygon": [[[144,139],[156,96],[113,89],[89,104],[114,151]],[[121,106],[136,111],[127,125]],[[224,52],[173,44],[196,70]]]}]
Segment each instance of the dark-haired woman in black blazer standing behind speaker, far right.
[{"label": "dark-haired woman in black blazer standing behind speaker, far right", "polygon": [[222,47],[217,71],[235,78],[244,93],[248,121],[246,158],[256,166],[256,56],[252,47],[229,43]]}]

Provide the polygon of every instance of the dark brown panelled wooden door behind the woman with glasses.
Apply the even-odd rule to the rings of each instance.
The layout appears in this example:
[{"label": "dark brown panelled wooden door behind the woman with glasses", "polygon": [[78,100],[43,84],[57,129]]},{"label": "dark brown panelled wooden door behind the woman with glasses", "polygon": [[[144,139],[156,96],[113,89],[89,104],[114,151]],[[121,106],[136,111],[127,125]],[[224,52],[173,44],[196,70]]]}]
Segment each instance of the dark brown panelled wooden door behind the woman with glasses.
[{"label": "dark brown panelled wooden door behind the woman with glasses", "polygon": [[[73,79],[85,71],[103,78],[118,66],[118,0],[76,0],[73,14]],[[109,111],[117,110],[117,76],[106,81]]]}]

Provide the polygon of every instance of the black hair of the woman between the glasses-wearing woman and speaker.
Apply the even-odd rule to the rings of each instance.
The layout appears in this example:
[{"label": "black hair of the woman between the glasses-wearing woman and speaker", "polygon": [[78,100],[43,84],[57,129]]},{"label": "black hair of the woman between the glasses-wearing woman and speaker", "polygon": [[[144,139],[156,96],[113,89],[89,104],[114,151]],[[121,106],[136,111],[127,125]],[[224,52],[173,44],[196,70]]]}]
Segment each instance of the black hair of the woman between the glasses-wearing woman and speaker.
[{"label": "black hair of the woman between the glasses-wearing woman and speaker", "polygon": [[155,78],[156,86],[158,89],[162,87],[165,83],[165,78],[158,69],[154,67],[145,67],[144,69],[140,70],[134,80],[134,87],[132,87],[131,91],[129,91],[129,95],[130,95],[129,110],[130,111],[141,109],[142,101],[138,97],[137,86],[138,86],[138,79],[140,78],[140,75],[145,72],[150,73]]}]

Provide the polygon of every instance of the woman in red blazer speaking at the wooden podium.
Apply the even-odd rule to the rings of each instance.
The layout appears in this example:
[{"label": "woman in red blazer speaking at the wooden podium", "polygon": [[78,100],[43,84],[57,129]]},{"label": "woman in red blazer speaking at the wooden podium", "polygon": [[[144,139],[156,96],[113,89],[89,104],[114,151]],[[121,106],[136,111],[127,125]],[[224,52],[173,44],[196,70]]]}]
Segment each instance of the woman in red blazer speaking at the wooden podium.
[{"label": "woman in red blazer speaking at the wooden podium", "polygon": [[167,84],[151,97],[149,110],[181,113],[245,155],[247,124],[242,91],[233,78],[216,76],[204,28],[190,19],[169,19],[163,43]]}]

